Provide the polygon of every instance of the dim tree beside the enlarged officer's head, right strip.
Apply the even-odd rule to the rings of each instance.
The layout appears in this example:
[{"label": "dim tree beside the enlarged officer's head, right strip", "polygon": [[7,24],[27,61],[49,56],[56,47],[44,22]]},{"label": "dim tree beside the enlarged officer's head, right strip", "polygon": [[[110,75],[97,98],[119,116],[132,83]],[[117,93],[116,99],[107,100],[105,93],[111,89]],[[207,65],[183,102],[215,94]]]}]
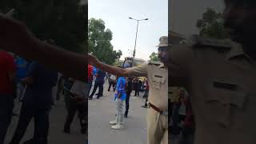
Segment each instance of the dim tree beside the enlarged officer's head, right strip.
[{"label": "dim tree beside the enlarged officer's head, right strip", "polygon": [[197,21],[200,36],[204,38],[227,38],[223,23],[222,13],[207,8],[206,12],[202,14],[202,18]]}]

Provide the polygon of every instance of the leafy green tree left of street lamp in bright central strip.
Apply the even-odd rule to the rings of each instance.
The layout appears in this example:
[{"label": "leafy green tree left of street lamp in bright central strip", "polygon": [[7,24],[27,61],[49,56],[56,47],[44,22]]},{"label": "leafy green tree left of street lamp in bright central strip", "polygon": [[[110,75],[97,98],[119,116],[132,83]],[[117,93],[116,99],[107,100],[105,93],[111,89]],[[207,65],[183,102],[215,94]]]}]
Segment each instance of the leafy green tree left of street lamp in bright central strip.
[{"label": "leafy green tree left of street lamp in bright central strip", "polygon": [[121,50],[113,50],[111,44],[112,32],[106,29],[102,19],[90,18],[88,25],[89,52],[92,52],[100,61],[113,65],[122,56]]}]

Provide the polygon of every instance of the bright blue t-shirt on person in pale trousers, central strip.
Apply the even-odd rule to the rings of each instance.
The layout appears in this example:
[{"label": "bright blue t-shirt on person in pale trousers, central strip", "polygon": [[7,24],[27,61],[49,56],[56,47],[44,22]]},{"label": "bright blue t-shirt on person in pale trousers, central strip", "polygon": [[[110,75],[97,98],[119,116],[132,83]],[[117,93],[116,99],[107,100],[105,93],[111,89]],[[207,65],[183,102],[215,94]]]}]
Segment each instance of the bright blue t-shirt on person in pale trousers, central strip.
[{"label": "bright blue t-shirt on person in pale trousers, central strip", "polygon": [[126,100],[126,78],[119,77],[117,86],[116,86],[117,93],[114,96],[114,99],[118,98],[118,94],[121,94],[121,99]]}]

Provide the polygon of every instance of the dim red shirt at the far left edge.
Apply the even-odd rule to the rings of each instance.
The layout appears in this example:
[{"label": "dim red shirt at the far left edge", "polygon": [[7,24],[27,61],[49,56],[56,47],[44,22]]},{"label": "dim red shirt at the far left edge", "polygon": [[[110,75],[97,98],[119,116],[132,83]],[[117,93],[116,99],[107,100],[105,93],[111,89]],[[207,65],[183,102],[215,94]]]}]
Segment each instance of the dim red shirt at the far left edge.
[{"label": "dim red shirt at the far left edge", "polygon": [[13,86],[8,74],[14,73],[15,70],[13,56],[0,50],[0,94],[13,94]]}]

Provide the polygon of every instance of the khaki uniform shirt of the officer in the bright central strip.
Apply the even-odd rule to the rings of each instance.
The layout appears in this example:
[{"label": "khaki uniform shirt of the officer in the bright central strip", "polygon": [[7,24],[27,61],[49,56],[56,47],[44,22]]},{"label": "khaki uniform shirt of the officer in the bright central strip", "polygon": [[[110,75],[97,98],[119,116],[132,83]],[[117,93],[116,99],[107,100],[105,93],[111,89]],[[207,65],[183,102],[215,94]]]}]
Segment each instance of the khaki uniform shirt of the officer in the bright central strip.
[{"label": "khaki uniform shirt of the officer in the bright central strip", "polygon": [[149,62],[128,70],[129,76],[146,77],[149,82],[149,102],[159,109],[168,110],[168,70],[160,62]]}]

